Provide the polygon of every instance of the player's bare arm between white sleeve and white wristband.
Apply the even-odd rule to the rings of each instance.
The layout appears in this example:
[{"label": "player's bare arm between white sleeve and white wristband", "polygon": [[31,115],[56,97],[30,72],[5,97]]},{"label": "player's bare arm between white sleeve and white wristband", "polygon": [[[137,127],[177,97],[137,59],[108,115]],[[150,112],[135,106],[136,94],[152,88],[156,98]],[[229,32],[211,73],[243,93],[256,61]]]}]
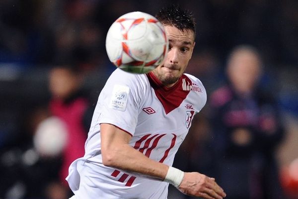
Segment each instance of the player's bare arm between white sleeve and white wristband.
[{"label": "player's bare arm between white sleeve and white wristband", "polygon": [[103,164],[126,170],[148,178],[163,180],[168,166],[131,147],[130,136],[111,124],[101,124],[101,152]]}]

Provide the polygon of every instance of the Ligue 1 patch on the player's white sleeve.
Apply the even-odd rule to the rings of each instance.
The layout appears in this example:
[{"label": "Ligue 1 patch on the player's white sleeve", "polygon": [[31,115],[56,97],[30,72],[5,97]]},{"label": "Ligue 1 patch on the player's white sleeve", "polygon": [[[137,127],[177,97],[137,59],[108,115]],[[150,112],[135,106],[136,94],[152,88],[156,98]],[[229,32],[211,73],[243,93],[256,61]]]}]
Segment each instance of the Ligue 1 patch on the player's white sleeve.
[{"label": "Ligue 1 patch on the player's white sleeve", "polygon": [[125,111],[129,91],[130,89],[127,86],[115,85],[113,88],[109,107],[115,110]]}]

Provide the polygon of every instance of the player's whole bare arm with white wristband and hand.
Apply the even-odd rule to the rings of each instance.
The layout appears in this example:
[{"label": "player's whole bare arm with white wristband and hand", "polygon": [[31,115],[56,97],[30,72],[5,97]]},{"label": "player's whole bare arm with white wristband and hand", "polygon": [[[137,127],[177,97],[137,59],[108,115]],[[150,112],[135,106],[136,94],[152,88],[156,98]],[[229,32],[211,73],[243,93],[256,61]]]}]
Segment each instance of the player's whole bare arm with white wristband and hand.
[{"label": "player's whole bare arm with white wristband and hand", "polygon": [[[131,135],[118,127],[102,123],[101,153],[105,166],[126,170],[151,179],[172,182],[175,185],[179,179],[180,170],[169,167],[163,163],[149,159],[143,153],[129,145]],[[181,171],[180,171],[181,172]],[[223,189],[213,178],[198,172],[183,173],[182,181],[175,185],[182,193],[203,197],[205,199],[222,199],[225,197]]]}]

